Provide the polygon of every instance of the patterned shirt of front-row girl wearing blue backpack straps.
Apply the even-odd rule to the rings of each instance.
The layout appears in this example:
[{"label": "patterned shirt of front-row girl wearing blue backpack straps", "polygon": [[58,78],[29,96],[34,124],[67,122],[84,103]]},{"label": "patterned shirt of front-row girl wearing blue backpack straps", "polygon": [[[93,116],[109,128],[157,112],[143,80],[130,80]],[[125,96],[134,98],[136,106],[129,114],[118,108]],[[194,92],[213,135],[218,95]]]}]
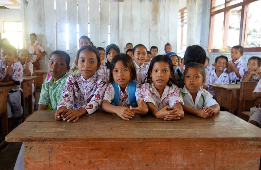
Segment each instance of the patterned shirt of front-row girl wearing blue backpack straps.
[{"label": "patterned shirt of front-row girl wearing blue backpack straps", "polygon": [[[141,84],[137,83],[137,87],[135,90],[135,97],[136,97],[136,101],[138,101],[139,99],[142,98],[141,95]],[[130,101],[129,101],[129,97],[128,97],[128,86],[126,86],[124,92],[121,91],[120,86],[118,85],[118,90],[120,92],[120,98],[119,98],[119,103],[118,106],[124,106],[124,107],[130,107]],[[110,83],[104,93],[104,97],[102,100],[107,100],[108,102],[112,102],[113,98],[114,98],[114,94],[115,94],[115,90],[114,87],[112,85],[112,83]]]}]

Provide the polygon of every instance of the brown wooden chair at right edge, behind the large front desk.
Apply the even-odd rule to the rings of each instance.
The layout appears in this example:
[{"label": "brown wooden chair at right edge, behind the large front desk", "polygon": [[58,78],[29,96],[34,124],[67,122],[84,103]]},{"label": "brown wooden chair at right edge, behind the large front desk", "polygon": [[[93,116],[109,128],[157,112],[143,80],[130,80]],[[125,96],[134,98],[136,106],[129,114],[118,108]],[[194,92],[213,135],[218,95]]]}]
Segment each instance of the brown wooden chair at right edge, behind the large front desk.
[{"label": "brown wooden chair at right edge, behind the large front desk", "polygon": [[256,85],[257,82],[241,82],[237,116],[246,121],[250,116],[250,108],[254,107],[255,100],[252,98],[252,93]]}]

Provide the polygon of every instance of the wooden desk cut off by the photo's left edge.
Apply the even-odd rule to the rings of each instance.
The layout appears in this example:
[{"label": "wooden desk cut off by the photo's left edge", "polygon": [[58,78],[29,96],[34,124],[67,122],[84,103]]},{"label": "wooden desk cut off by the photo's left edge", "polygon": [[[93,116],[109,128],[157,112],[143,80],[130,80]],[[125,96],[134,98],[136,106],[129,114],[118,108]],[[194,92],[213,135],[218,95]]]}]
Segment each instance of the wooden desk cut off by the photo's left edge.
[{"label": "wooden desk cut off by the photo's left edge", "polygon": [[0,87],[0,115],[1,115],[1,123],[2,123],[2,141],[0,143],[0,147],[5,144],[5,136],[8,134],[8,119],[7,119],[7,94],[10,90],[15,87],[11,86],[1,86]]}]

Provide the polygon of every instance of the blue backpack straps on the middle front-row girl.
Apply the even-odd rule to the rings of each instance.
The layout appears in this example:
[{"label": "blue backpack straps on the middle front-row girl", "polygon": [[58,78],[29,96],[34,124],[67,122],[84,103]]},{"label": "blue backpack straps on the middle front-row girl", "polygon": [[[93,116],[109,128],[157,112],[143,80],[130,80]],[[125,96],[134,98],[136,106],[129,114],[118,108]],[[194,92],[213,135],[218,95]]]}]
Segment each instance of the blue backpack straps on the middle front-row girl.
[{"label": "blue backpack straps on the middle front-row girl", "polygon": [[[118,84],[115,82],[112,82],[113,88],[114,88],[114,98],[112,99],[111,103],[114,106],[119,105],[119,99],[120,99],[120,91]],[[131,80],[128,84],[128,98],[130,105],[132,107],[138,107],[136,97],[135,97],[135,92],[136,92],[136,87],[137,87],[137,82]]]}]

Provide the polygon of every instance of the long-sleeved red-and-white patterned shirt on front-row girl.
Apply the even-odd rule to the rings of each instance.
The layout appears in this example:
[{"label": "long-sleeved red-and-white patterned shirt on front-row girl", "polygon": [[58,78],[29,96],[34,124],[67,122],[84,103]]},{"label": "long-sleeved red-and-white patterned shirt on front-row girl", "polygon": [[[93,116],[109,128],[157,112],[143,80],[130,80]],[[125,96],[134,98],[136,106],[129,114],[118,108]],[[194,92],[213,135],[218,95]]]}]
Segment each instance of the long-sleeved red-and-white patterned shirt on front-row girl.
[{"label": "long-sleeved red-and-white patterned shirt on front-row girl", "polygon": [[80,73],[69,75],[57,109],[61,107],[66,107],[68,110],[84,108],[87,114],[91,114],[100,109],[106,87],[105,78],[98,76],[97,72],[87,80]]}]

